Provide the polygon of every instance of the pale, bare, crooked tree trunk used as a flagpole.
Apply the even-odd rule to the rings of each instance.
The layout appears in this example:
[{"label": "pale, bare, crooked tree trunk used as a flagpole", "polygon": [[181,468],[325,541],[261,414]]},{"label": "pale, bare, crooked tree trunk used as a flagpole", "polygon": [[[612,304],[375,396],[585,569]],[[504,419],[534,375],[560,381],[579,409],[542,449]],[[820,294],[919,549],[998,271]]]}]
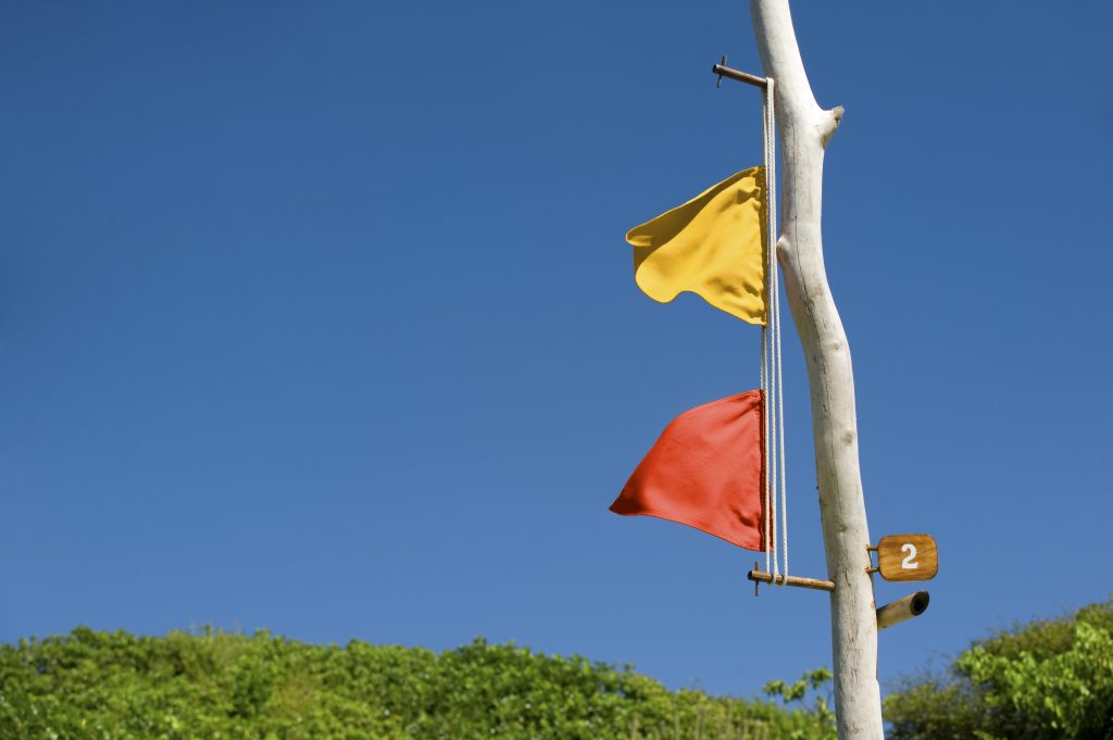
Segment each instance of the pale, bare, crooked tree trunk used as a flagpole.
[{"label": "pale, bare, crooked tree trunk used as a flagpole", "polygon": [[819,231],[824,149],[841,108],[821,109],[811,93],[788,0],[750,0],[767,77],[776,81],[784,185],[780,262],[792,320],[808,366],[819,478],[819,512],[831,593],[835,712],[839,740],[883,740],[877,683],[877,614],[866,568],[869,529],[858,470],[850,349],[827,284]]}]

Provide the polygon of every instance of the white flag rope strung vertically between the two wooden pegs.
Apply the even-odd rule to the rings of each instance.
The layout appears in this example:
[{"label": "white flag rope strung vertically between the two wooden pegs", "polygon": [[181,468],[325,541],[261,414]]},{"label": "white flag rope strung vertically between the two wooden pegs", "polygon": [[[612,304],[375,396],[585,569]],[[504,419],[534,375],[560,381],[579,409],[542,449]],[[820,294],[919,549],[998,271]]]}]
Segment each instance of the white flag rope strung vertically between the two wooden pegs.
[{"label": "white flag rope strung vertically between the two wooden pegs", "polygon": [[[764,129],[765,129],[765,166],[766,166],[766,211],[768,223],[766,233],[768,236],[768,269],[766,270],[767,309],[766,327],[762,332],[762,371],[766,385],[767,406],[767,485],[766,502],[769,504],[767,511],[767,532],[771,534],[772,550],[772,573],[774,583],[777,583],[779,568],[777,564],[777,550],[779,549],[784,558],[785,579],[780,585],[785,585],[788,576],[788,486],[785,480],[785,394],[782,391],[782,369],[780,355],[780,278],[777,263],[777,116],[774,107],[775,82],[772,78],[766,78],[766,89],[762,106]],[[776,543],[777,533],[777,490],[780,489],[780,543]],[[767,550],[767,558],[769,552]],[[767,565],[768,571],[768,565]]]}]

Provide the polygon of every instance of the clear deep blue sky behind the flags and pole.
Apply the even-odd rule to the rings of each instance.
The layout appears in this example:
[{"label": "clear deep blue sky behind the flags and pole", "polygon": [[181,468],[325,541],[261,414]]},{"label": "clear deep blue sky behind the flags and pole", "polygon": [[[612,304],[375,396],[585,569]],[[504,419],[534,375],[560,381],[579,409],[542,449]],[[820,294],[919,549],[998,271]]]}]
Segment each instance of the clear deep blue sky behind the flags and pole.
[{"label": "clear deep blue sky behind the flags and pole", "polygon": [[[1105,599],[1113,7],[796,3],[874,539],[929,532],[879,673]],[[746,3],[0,10],[0,640],[477,634],[749,694],[827,599],[607,511],[758,333],[622,236],[760,161]],[[794,571],[823,576],[785,337]],[[878,600],[912,591],[878,584]]]}]

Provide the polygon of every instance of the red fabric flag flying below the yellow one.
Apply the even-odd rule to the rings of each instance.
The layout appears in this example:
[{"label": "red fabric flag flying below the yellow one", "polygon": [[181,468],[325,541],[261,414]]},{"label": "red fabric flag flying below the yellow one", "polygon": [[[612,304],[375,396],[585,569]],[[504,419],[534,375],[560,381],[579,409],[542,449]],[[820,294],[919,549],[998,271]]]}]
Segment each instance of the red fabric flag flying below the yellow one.
[{"label": "red fabric flag flying below the yellow one", "polygon": [[611,511],[671,520],[764,551],[764,420],[761,391],[686,411],[664,427]]}]

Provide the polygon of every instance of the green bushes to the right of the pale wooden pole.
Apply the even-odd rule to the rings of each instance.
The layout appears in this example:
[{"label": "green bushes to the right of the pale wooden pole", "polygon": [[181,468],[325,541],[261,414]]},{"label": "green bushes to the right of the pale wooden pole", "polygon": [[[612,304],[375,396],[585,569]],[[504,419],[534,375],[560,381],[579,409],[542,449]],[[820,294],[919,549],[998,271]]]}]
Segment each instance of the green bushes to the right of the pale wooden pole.
[{"label": "green bushes to the right of the pale wooden pole", "polygon": [[1111,740],[1113,601],[981,640],[885,710],[894,740]]}]

